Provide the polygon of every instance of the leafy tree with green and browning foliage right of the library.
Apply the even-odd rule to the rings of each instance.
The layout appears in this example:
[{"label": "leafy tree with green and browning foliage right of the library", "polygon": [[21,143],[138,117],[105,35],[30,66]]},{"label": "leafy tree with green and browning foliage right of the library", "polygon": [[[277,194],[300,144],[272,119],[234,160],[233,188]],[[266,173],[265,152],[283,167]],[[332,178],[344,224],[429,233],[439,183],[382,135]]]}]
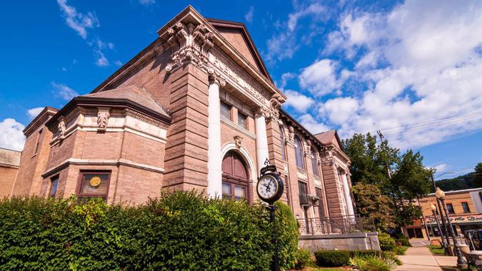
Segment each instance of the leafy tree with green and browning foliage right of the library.
[{"label": "leafy tree with green and browning foliage right of the library", "polygon": [[[431,187],[431,171],[423,167],[420,153],[407,150],[401,155],[387,140],[377,144],[376,136],[370,133],[355,134],[343,140],[343,147],[351,160],[353,195],[357,208],[360,205],[361,215],[374,218],[377,226],[384,229],[394,225],[403,227],[420,217],[421,212],[413,201],[417,195],[428,193]],[[371,191],[363,192],[362,189]],[[372,191],[380,196],[374,198]],[[377,207],[369,208],[368,205]],[[387,208],[380,209],[383,206]],[[381,219],[381,213],[387,213],[385,219]]]}]

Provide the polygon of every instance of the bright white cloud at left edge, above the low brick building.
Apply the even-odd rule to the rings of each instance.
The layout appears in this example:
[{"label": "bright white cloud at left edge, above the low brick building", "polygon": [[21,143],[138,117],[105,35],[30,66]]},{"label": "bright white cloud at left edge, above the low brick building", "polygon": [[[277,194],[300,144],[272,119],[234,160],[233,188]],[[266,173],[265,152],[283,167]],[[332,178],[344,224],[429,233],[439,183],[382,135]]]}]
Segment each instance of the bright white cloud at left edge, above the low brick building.
[{"label": "bright white cloud at left edge, above the low brick building", "polygon": [[0,148],[22,150],[25,136],[22,132],[25,126],[13,118],[5,118],[0,121]]}]

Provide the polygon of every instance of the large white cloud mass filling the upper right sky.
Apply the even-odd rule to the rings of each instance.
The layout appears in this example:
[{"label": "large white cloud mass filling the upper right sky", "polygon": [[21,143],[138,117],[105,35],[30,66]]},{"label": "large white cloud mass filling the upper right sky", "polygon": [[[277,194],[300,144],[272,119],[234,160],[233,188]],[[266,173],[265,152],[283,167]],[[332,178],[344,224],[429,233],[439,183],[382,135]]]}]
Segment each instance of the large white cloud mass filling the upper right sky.
[{"label": "large white cloud mass filling the upper right sky", "polygon": [[[341,16],[327,39],[324,53],[342,51],[354,70],[343,78],[333,61],[318,61],[303,70],[300,86],[314,96],[342,90],[318,117],[343,136],[382,129],[403,149],[482,129],[478,1],[408,0],[386,13],[355,10]],[[350,76],[356,88],[343,85]]]}]

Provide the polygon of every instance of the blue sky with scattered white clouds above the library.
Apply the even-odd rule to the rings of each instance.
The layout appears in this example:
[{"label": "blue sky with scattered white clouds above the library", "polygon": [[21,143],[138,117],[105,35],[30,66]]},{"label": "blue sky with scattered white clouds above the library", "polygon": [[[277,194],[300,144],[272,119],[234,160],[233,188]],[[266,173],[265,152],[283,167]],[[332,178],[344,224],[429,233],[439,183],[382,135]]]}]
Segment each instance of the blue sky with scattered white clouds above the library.
[{"label": "blue sky with scattered white clouds above the library", "polygon": [[313,133],[381,130],[440,173],[482,161],[480,1],[2,1],[0,147],[89,93],[192,4],[246,24],[283,106]]}]

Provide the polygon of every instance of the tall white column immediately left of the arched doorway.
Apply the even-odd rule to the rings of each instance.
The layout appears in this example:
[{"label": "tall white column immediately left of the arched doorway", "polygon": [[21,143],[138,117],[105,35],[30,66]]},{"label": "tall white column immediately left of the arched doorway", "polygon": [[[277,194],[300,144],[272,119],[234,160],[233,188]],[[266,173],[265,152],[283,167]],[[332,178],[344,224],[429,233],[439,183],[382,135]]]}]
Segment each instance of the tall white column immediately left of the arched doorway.
[{"label": "tall white column immediately left of the arched doorway", "polygon": [[219,101],[219,86],[224,86],[224,80],[209,71],[208,88],[208,195],[221,197],[223,194],[221,170],[221,116]]}]

